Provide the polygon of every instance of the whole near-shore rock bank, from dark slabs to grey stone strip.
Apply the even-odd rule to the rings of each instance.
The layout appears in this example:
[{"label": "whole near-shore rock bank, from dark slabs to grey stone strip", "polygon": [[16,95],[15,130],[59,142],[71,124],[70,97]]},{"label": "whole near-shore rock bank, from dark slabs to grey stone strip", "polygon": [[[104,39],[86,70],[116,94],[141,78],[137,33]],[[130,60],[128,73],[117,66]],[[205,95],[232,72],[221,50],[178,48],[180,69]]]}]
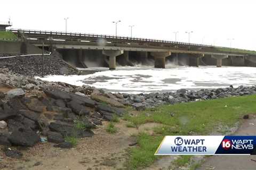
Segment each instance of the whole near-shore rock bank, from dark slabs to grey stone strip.
[{"label": "whole near-shore rock bank, from dark slabs to grey stone strip", "polygon": [[5,154],[18,158],[11,146],[32,147],[38,142],[57,143],[70,148],[65,137],[90,138],[92,129],[122,116],[125,106],[138,111],[162,104],[185,103],[256,93],[256,86],[190,91],[180,89],[164,94],[111,94],[89,86],[72,86],[16,75],[0,69],[0,145]]}]

